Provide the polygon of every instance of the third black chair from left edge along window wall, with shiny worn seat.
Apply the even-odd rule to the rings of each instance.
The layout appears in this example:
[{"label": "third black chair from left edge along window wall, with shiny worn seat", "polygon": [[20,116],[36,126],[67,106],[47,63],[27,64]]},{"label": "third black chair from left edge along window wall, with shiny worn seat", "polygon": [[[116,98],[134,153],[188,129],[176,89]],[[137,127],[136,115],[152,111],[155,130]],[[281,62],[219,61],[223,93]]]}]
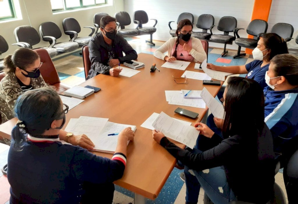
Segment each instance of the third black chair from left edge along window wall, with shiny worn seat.
[{"label": "third black chair from left edge along window wall, with shiny worn seat", "polygon": [[57,39],[62,36],[62,33],[57,24],[52,21],[44,22],[39,26],[39,33],[44,41],[50,43],[50,47],[55,48],[60,53],[72,52],[79,48],[76,42],[60,42]]}]

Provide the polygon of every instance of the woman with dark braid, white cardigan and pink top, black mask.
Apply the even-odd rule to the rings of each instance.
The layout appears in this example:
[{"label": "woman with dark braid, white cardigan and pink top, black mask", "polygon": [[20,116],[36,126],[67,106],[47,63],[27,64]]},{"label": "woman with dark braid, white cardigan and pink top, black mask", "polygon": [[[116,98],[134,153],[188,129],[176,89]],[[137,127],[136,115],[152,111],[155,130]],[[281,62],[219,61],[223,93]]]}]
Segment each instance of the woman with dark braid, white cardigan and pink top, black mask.
[{"label": "woman with dark braid, white cardigan and pink top, black mask", "polygon": [[[195,62],[204,61],[207,54],[200,39],[191,36],[192,32],[193,23],[189,19],[181,20],[177,25],[177,37],[165,42],[154,52],[154,56],[169,62],[177,59]],[[165,55],[164,52],[168,52],[168,55]]]}]

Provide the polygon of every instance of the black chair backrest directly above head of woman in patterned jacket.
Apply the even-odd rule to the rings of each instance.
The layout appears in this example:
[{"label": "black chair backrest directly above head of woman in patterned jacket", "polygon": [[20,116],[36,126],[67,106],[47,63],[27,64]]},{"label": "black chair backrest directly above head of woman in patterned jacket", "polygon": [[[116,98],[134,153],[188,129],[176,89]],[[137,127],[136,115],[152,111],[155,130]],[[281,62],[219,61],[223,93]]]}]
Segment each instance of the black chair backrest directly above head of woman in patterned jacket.
[{"label": "black chair backrest directly above head of woman in patterned jacket", "polygon": [[29,25],[16,27],[13,34],[17,42],[27,42],[31,46],[40,42],[37,30]]}]

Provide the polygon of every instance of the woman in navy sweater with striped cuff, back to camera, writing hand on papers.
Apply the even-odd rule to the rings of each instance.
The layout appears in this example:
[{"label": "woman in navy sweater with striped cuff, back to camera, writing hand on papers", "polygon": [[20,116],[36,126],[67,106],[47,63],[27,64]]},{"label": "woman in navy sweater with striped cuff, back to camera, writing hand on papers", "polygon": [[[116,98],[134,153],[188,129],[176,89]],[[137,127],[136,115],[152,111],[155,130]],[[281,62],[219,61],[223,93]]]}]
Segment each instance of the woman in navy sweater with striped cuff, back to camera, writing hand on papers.
[{"label": "woman in navy sweater with striped cuff, back to camera, writing hand on papers", "polygon": [[122,177],[130,128],[118,136],[112,159],[59,141],[68,107],[50,88],[25,92],[15,104],[7,178],[10,203],[112,203]]}]

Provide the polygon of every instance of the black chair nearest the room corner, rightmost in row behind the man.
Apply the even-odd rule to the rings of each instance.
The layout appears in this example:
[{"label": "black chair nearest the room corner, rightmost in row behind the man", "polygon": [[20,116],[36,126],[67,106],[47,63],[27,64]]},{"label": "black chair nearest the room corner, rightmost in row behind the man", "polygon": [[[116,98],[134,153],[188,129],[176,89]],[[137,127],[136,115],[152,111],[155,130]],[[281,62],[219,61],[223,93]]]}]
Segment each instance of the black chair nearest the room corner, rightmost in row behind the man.
[{"label": "black chair nearest the room corner, rightmost in row behind the man", "polygon": [[157,20],[156,19],[150,19],[150,20],[154,20],[155,24],[153,25],[153,27],[143,27],[143,24],[148,23],[148,15],[145,11],[142,10],[138,10],[134,12],[134,24],[138,24],[136,26],[136,29],[138,29],[139,31],[139,35],[148,35],[150,34],[150,41],[146,40],[146,42],[155,45],[155,43],[153,43],[152,41],[152,35],[153,33],[156,32],[156,24],[157,24]]}]

